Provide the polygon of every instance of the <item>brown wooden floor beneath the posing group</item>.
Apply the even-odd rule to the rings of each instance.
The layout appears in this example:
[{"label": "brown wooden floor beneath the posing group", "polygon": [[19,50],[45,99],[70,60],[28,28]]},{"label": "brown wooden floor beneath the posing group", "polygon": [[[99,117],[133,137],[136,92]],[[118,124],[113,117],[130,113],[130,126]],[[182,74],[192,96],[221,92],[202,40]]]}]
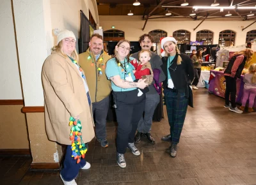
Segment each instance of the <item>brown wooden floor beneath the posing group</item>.
[{"label": "brown wooden floor beneath the posing group", "polygon": [[[195,108],[188,108],[176,158],[170,158],[168,120],[154,122],[156,145],[142,138],[141,156],[125,154],[127,167],[116,165],[114,123],[108,123],[107,149],[93,140],[77,184],[256,184],[256,113],[236,114],[207,89],[194,92]],[[58,170],[32,171],[29,156],[0,156],[0,184],[63,184]]]}]

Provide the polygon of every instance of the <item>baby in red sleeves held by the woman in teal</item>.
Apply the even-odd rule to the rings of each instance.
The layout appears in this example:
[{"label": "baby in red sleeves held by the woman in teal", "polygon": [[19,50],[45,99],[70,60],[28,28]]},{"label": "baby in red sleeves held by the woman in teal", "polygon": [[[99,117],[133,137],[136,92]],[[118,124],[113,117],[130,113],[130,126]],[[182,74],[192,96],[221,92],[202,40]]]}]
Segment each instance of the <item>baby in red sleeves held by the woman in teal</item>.
[{"label": "baby in red sleeves held by the woman in teal", "polygon": [[[152,84],[153,81],[153,71],[149,63],[151,52],[148,50],[141,50],[138,56],[139,62],[136,59],[132,61],[132,65],[135,68],[135,70],[133,70],[133,73],[136,78],[136,81],[138,81],[141,78],[147,79],[145,83],[150,85]],[[141,96],[143,93],[147,93],[149,90],[148,87],[146,87],[145,89],[138,89],[138,91],[138,96]]]}]

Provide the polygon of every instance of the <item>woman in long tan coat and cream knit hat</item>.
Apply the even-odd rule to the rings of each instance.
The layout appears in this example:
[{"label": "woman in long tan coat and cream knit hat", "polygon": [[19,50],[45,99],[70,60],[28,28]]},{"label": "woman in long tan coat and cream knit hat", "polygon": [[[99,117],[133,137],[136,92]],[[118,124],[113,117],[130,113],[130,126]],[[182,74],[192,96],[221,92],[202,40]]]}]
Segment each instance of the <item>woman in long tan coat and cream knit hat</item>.
[{"label": "woman in long tan coat and cream knit hat", "polygon": [[49,140],[68,145],[60,176],[64,184],[76,184],[79,169],[90,168],[81,158],[72,158],[70,117],[81,121],[83,142],[94,137],[92,103],[83,70],[77,63],[76,37],[72,31],[57,33],[58,45],[52,48],[42,70],[45,98],[45,127]]}]

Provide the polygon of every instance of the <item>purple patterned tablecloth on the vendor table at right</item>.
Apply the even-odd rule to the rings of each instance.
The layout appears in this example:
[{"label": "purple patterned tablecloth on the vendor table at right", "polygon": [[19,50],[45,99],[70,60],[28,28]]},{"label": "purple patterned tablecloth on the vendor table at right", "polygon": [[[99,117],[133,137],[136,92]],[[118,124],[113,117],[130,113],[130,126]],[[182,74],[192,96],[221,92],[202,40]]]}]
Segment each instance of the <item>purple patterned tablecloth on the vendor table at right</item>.
[{"label": "purple patterned tablecloth on the vendor table at right", "polygon": [[[210,75],[211,80],[209,80],[209,93],[225,98],[226,80],[224,77],[224,72],[211,70],[210,73],[211,74],[213,73],[215,77],[212,78],[212,75]],[[243,78],[244,76],[242,75],[240,79],[237,78],[236,80],[236,102],[239,104],[242,103],[242,98],[243,98],[243,90],[244,90]],[[256,108],[256,98],[255,98],[253,107]]]}]

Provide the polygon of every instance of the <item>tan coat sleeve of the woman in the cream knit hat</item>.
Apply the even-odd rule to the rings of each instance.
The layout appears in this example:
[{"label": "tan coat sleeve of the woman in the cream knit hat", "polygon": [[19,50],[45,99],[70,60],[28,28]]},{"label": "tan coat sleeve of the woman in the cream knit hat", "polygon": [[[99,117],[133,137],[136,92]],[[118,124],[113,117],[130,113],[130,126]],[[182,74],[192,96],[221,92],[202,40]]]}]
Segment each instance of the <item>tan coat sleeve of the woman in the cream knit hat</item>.
[{"label": "tan coat sleeve of the woman in the cream knit hat", "polygon": [[68,84],[65,65],[63,61],[57,61],[56,59],[45,61],[43,73],[70,115],[76,117],[83,112],[83,108],[74,95],[72,87]]}]

